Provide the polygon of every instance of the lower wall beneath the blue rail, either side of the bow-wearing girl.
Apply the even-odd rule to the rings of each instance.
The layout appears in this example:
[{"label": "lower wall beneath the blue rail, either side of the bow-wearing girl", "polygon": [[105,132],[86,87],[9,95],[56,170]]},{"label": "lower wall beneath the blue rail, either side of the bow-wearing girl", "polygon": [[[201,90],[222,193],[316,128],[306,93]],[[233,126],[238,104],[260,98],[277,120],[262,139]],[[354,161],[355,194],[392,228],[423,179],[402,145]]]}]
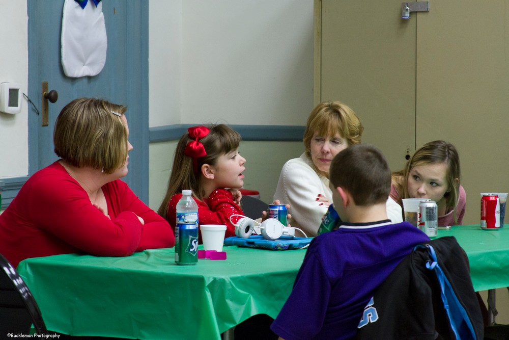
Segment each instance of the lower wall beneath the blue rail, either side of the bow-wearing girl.
[{"label": "lower wall beneath the blue rail, either side of the bow-wearing girl", "polygon": [[[150,144],[149,206],[156,210],[164,198],[177,141]],[[285,162],[300,156],[302,142],[243,141],[239,151],[246,159],[244,188],[258,190],[267,203],[272,197]]]}]

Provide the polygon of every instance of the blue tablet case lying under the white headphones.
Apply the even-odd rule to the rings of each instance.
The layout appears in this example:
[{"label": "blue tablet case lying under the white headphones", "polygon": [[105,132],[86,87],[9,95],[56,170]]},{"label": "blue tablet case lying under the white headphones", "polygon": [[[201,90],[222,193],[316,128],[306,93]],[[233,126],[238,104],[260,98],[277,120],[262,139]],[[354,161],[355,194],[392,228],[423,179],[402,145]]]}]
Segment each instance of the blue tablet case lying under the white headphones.
[{"label": "blue tablet case lying under the white headphones", "polygon": [[306,245],[309,244],[309,242],[311,242],[311,240],[313,240],[313,238],[294,238],[282,236],[277,240],[270,241],[265,240],[261,235],[251,236],[248,239],[232,236],[224,239],[224,245],[269,250],[288,250],[288,249],[300,249],[302,247],[305,247]]}]

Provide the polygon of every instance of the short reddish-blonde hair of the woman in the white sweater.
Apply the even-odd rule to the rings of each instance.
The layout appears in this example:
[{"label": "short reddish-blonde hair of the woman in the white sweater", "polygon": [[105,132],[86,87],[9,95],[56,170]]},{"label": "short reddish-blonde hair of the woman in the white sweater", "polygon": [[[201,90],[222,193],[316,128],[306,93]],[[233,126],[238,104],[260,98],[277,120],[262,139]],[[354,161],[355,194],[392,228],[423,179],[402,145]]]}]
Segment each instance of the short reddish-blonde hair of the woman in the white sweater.
[{"label": "short reddish-blonde hair of the woman in the white sweater", "polygon": [[304,132],[306,155],[311,155],[313,135],[335,136],[340,134],[346,138],[348,145],[360,143],[364,126],[355,112],[341,101],[323,101],[309,114]]}]

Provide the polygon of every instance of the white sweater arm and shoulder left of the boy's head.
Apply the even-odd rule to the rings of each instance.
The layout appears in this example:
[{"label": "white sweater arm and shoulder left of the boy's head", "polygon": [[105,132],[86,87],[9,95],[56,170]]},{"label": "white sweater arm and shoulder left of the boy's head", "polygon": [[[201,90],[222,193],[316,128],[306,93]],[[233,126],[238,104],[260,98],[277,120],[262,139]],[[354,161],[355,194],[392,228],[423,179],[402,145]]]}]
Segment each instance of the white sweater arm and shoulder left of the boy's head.
[{"label": "white sweater arm and shoulder left of the boy's head", "polygon": [[327,206],[320,205],[321,202],[316,200],[318,194],[324,195],[332,203],[328,179],[320,178],[302,159],[290,160],[283,166],[274,200],[290,204],[291,226],[302,229],[307,237],[317,236],[327,212]]}]

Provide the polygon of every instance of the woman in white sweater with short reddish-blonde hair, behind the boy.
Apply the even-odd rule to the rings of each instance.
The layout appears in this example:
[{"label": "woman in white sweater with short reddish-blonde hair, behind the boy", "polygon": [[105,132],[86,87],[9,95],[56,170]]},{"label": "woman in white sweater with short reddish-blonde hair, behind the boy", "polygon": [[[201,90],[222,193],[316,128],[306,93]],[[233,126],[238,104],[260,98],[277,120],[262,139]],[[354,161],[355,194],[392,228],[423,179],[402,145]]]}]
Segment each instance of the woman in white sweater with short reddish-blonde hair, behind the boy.
[{"label": "woman in white sweater with short reddish-blonde hair, behind the boy", "polygon": [[[362,126],[355,112],[340,101],[321,102],[309,115],[304,132],[305,151],[282,168],[274,200],[290,204],[289,223],[317,236],[327,208],[332,204],[329,166],[334,156],[359,144]],[[402,221],[401,207],[387,199],[387,215],[393,223]]]}]

